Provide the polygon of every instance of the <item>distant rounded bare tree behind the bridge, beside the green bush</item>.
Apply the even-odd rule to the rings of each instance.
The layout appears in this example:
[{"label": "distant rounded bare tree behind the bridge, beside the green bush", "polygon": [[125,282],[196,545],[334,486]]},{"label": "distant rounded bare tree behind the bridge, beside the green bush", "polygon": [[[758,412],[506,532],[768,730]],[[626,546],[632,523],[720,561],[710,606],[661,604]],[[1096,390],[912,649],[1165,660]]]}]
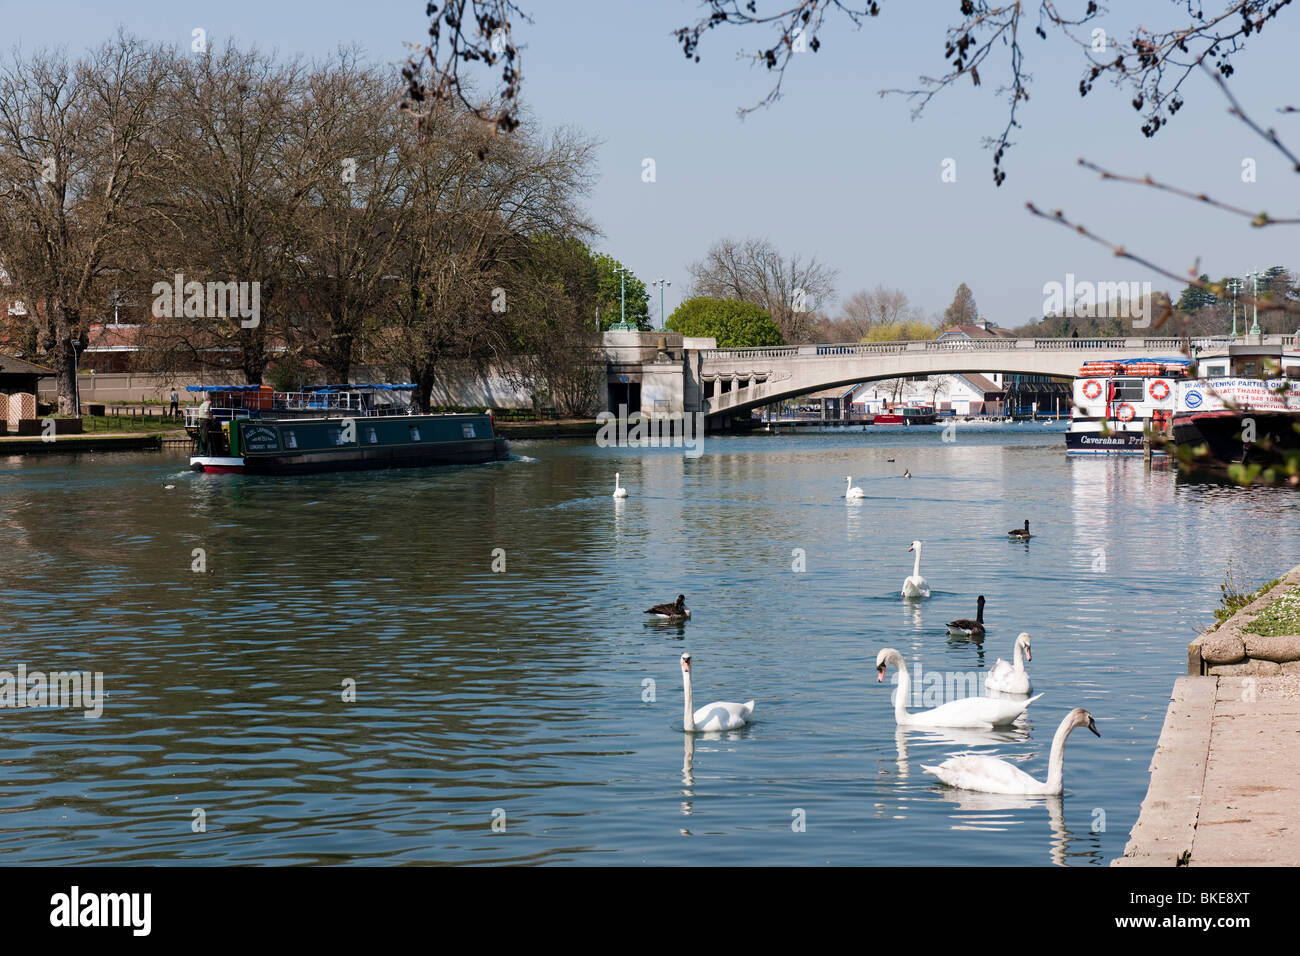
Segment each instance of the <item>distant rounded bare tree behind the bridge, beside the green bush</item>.
[{"label": "distant rounded bare tree behind the bridge, beside the green bush", "polygon": [[788,343],[806,342],[815,313],[835,297],[835,269],[816,256],[784,256],[767,239],[719,239],[688,271],[688,295],[758,306]]}]

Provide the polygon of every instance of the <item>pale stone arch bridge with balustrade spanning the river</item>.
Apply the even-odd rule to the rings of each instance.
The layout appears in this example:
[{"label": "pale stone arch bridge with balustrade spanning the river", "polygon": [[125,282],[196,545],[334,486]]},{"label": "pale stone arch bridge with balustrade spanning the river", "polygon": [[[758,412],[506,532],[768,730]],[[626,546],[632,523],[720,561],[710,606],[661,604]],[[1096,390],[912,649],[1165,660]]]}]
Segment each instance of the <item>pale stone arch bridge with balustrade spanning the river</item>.
[{"label": "pale stone arch bridge with balustrade spanning the river", "polygon": [[[1232,341],[1279,355],[1296,336],[1249,336]],[[731,415],[810,392],[880,378],[1002,372],[1074,378],[1086,362],[1173,358],[1183,338],[944,338],[857,345],[800,345],[768,349],[702,349],[688,375],[698,381],[698,406],[686,411]],[[1193,338],[1200,358],[1228,354],[1227,337]],[[696,403],[688,403],[696,405]]]}]

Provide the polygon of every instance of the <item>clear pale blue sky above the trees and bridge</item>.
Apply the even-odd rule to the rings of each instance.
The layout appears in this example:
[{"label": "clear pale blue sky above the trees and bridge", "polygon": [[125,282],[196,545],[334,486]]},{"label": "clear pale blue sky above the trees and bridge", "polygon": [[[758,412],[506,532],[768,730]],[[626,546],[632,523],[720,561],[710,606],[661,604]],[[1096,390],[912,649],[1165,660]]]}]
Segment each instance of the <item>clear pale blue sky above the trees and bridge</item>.
[{"label": "clear pale blue sky above the trees and bridge", "polygon": [[[775,0],[759,0],[760,10]],[[1204,0],[1206,9],[1226,0]],[[523,95],[541,129],[572,127],[599,143],[586,208],[602,234],[592,243],[645,281],[672,285],[671,313],[689,286],[688,267],[723,237],[762,237],[786,254],[816,256],[837,271],[837,299],[883,285],[904,290],[937,319],[959,282],[982,317],[1017,326],[1043,315],[1049,282],[1149,281],[1174,298],[1182,284],[1115,259],[1060,225],[1032,217],[1026,202],[1072,220],[1170,271],[1196,267],[1214,278],[1280,264],[1300,269],[1296,232],[1252,229],[1239,217],[1143,186],[1102,182],[1087,157],[1114,172],[1204,191],[1273,216],[1296,216],[1296,173],[1275,148],[1228,116],[1208,77],[1184,83],[1186,105],[1152,139],[1127,90],[1098,82],[1080,98],[1082,53],[1049,31],[1024,40],[1031,99],[994,187],[985,137],[1006,122],[997,90],[1004,61],[962,81],[920,117],[883,88],[914,88],[941,75],[945,27],[956,0],[883,0],[861,30],[832,18],[822,48],[796,57],[783,98],[745,118],[771,75],[740,57],[770,43],[764,27],[710,31],[701,62],[682,56],[672,30],[694,22],[694,0],[520,0],[532,23],[523,46]],[[1032,4],[1031,4],[1032,5]],[[1058,7],[1083,7],[1060,0]],[[358,46],[399,64],[428,30],[425,0],[121,0],[6,5],[0,49],[65,47],[77,53],[118,26],[144,39],[190,47],[192,30],[285,56],[324,57]],[[1182,0],[1113,0],[1102,27],[1127,35],[1178,22]],[[1264,126],[1300,147],[1294,49],[1300,9],[1248,42],[1234,60],[1234,94]],[[994,65],[996,64],[996,68]],[[1290,134],[1290,135],[1288,135]],[[654,181],[642,177],[654,160]],[[1243,161],[1254,160],[1254,182]],[[946,160],[956,181],[944,182]],[[658,291],[651,315],[658,315]],[[835,315],[837,302],[815,303]]]}]

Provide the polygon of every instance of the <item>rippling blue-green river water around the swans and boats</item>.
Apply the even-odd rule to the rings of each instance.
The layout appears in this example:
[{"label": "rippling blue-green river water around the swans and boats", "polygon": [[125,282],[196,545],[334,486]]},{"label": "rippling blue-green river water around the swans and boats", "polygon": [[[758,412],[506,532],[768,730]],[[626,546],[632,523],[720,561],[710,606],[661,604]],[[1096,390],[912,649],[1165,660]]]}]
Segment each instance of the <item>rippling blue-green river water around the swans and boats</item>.
[{"label": "rippling blue-green river water around the swans and boats", "polygon": [[[286,479],[0,459],[0,670],[105,692],[95,719],[0,709],[0,864],[1105,865],[1225,570],[1271,579],[1300,535],[1288,492],[1062,446],[1035,424],[698,458],[515,442]],[[923,602],[898,593],[914,538]],[[677,593],[692,620],[649,624]],[[949,639],[978,594],[983,645]],[[879,649],[941,678],[928,706],[983,692],[1020,631],[1045,695],[1020,727],[896,728]],[[682,732],[682,650],[697,706],[754,697],[753,726]],[[1074,706],[1101,739],[1070,739],[1061,799],[920,770],[980,752],[1041,779]]]}]

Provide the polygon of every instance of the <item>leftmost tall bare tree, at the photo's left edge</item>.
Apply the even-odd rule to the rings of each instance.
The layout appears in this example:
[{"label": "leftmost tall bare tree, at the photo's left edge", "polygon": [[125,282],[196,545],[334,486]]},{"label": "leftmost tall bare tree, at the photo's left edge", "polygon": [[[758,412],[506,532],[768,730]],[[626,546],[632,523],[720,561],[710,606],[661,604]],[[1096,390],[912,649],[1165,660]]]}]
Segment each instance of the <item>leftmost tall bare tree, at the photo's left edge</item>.
[{"label": "leftmost tall bare tree, at the photo's left edge", "polygon": [[40,325],[64,415],[155,173],[164,62],[120,33],[77,62],[35,53],[0,68],[0,258]]}]

